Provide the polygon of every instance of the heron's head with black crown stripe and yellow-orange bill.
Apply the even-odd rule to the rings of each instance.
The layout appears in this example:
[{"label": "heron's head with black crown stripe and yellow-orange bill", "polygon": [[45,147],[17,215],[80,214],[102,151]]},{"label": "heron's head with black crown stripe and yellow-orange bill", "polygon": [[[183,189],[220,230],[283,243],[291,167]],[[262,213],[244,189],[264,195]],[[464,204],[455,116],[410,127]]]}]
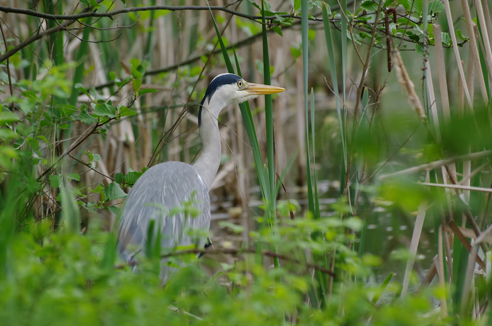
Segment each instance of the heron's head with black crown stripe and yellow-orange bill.
[{"label": "heron's head with black crown stripe and yellow-orange bill", "polygon": [[[228,105],[243,103],[263,94],[283,92],[285,88],[255,84],[247,82],[234,74],[217,75],[207,87],[198,113],[198,121],[201,120],[201,112],[204,106],[208,109],[220,111]],[[218,112],[216,112],[218,114]]]}]

